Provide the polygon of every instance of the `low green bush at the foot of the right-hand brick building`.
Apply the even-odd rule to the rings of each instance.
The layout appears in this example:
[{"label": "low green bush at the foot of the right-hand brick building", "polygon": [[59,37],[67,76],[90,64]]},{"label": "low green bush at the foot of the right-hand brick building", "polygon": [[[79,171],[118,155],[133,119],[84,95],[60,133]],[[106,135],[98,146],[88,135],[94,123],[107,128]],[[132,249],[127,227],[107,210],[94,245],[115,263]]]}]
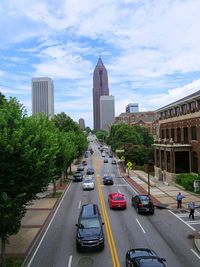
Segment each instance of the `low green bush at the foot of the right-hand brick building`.
[{"label": "low green bush at the foot of the right-hand brick building", "polygon": [[194,191],[194,180],[200,177],[191,173],[181,173],[176,175],[176,183],[183,186],[188,191]]}]

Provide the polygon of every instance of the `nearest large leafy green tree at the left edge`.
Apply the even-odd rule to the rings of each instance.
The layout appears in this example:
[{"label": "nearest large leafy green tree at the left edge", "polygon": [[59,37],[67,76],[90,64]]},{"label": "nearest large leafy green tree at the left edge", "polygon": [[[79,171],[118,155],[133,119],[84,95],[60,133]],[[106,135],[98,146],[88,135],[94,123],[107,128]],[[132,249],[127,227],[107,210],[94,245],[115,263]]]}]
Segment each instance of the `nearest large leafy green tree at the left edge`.
[{"label": "nearest large leafy green tree at the left edge", "polygon": [[[58,142],[46,117],[27,117],[15,99],[0,107],[0,238],[17,233],[25,205],[56,175]],[[3,219],[4,218],[4,219]],[[6,219],[7,218],[7,219]],[[12,227],[11,227],[12,223]]]}]

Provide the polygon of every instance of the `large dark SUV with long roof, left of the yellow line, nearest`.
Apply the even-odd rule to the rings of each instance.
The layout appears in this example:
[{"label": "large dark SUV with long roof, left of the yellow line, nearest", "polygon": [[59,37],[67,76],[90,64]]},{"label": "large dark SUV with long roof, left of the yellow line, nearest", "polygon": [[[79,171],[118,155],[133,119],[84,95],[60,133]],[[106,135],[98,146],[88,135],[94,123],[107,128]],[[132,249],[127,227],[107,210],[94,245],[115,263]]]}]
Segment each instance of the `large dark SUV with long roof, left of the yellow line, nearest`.
[{"label": "large dark SUV with long roof, left of the yellow line, nearest", "polygon": [[78,251],[104,248],[103,224],[96,204],[82,206],[76,224],[76,248]]}]

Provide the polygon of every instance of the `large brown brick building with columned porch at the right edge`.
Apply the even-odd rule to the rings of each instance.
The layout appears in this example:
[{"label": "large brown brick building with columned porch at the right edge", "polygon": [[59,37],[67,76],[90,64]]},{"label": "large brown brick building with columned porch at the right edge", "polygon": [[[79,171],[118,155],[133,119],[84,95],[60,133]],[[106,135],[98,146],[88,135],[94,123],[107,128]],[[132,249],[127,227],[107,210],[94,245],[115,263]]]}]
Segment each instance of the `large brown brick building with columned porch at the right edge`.
[{"label": "large brown brick building with columned porch at the right edge", "polygon": [[170,182],[177,173],[200,171],[200,91],[157,110],[155,176]]}]

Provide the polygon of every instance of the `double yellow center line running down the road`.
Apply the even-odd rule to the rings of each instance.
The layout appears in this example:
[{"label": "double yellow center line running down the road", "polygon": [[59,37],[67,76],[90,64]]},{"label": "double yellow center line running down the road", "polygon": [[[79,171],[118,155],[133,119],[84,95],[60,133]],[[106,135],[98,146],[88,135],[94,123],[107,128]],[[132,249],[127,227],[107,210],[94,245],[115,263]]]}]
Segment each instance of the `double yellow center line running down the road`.
[{"label": "double yellow center line running down the road", "polygon": [[[97,160],[96,157],[94,159],[95,159],[95,167],[96,167],[95,170],[98,173],[100,166],[102,164],[102,160],[101,161]],[[115,241],[114,241],[112,230],[111,230],[110,221],[108,218],[108,213],[106,210],[106,204],[105,204],[103,192],[101,189],[100,176],[96,175],[96,177],[97,177],[97,179],[96,179],[97,180],[97,188],[98,188],[100,203],[101,203],[101,207],[102,207],[102,213],[103,213],[103,217],[104,217],[105,229],[106,229],[106,234],[107,234],[107,238],[108,238],[108,244],[110,247],[112,263],[113,263],[114,267],[120,267],[119,257],[118,257]]]}]

